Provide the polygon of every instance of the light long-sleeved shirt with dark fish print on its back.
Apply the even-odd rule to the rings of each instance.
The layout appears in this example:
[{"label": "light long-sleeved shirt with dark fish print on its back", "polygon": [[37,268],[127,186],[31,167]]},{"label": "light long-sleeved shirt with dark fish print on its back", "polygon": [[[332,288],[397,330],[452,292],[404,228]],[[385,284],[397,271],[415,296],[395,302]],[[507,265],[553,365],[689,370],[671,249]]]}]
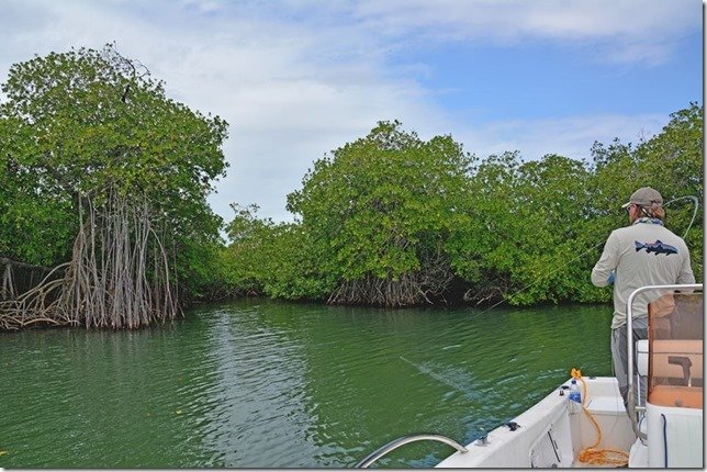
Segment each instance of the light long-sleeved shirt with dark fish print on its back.
[{"label": "light long-sleeved shirt with dark fish print on its back", "polygon": [[[606,286],[614,271],[614,318],[611,328],[626,324],[629,295],[644,285],[695,283],[687,245],[660,220],[639,218],[615,229],[592,269],[592,283]],[[660,293],[643,292],[633,301],[635,318],[648,316],[648,303]]]}]

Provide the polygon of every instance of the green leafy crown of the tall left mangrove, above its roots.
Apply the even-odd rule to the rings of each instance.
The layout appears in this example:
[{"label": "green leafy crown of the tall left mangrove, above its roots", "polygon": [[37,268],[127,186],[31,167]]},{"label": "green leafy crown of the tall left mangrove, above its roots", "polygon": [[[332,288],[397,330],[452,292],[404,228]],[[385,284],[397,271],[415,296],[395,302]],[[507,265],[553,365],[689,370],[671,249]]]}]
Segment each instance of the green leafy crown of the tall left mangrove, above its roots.
[{"label": "green leafy crown of the tall left mangrove, above its roots", "polygon": [[2,91],[0,254],[67,260],[79,199],[101,205],[112,189],[149,202],[184,293],[199,292],[203,250],[220,239],[222,221],[205,198],[225,171],[226,122],[167,98],[162,82],[111,45],[15,64]]}]

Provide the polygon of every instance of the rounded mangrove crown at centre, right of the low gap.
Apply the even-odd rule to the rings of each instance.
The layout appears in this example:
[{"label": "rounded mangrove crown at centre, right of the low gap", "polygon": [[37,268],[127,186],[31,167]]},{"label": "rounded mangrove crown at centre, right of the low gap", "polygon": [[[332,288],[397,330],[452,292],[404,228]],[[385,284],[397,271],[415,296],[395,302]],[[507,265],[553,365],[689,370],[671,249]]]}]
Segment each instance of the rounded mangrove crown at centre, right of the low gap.
[{"label": "rounded mangrove crown at centre, right of the low gap", "polygon": [[302,190],[288,196],[288,209],[302,217],[319,246],[318,267],[335,279],[424,278],[436,270],[430,265],[448,234],[467,218],[458,205],[470,166],[450,136],[423,142],[400,122],[381,122],[317,160]]}]

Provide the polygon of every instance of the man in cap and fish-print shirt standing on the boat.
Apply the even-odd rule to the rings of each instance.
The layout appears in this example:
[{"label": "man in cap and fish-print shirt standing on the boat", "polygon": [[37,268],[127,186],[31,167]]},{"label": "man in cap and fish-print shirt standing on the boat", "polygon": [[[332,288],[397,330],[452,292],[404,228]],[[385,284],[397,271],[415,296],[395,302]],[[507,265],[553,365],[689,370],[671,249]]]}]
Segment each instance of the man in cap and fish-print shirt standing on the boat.
[{"label": "man in cap and fish-print shirt standing on the boat", "polygon": [[[611,319],[611,361],[624,406],[628,405],[628,353],[626,345],[626,305],[629,295],[646,285],[695,283],[687,245],[663,226],[663,198],[650,187],[638,189],[622,209],[629,226],[611,232],[602,257],[592,269],[596,286],[614,284],[614,318]],[[647,294],[633,303],[633,342],[648,338]],[[636,371],[636,370],[635,370]],[[644,381],[641,397],[646,398]]]}]

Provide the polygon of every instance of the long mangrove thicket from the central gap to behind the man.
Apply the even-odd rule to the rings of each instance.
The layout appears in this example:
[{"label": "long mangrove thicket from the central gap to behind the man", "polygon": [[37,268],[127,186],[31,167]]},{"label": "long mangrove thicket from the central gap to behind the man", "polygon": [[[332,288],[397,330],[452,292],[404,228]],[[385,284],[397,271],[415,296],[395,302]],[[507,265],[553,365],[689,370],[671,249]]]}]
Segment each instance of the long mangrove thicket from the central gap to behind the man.
[{"label": "long mangrove thicket from the central gap to behind the man", "polygon": [[[702,106],[672,114],[662,133],[636,146],[615,139],[591,151],[591,162],[558,155],[524,162],[509,151],[475,162],[449,136],[423,142],[399,122],[381,122],[314,162],[288,196],[298,223],[235,207],[234,283],[337,301],[343,288],[371,280],[389,283],[381,288],[411,274],[453,274],[468,302],[609,301],[610,289],[593,286],[590,272],[608,234],[628,223],[620,210],[628,196],[639,187],[660,190],[667,226],[680,235],[694,214],[685,195],[703,199]],[[698,212],[686,235],[698,280],[702,237]]]}]

